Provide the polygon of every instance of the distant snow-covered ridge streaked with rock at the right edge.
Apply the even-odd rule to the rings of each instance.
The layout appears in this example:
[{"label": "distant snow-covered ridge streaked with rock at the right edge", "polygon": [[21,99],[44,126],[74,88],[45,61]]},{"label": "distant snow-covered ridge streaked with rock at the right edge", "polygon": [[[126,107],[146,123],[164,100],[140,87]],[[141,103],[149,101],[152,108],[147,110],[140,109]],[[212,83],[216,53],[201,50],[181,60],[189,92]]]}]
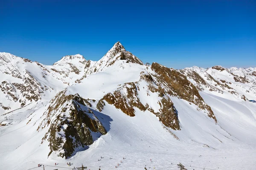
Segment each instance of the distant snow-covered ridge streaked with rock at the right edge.
[{"label": "distant snow-covered ridge streaked with rock at the right edge", "polygon": [[199,91],[238,101],[255,98],[255,71],[256,68],[223,68],[221,66],[208,69],[194,66],[181,70]]}]

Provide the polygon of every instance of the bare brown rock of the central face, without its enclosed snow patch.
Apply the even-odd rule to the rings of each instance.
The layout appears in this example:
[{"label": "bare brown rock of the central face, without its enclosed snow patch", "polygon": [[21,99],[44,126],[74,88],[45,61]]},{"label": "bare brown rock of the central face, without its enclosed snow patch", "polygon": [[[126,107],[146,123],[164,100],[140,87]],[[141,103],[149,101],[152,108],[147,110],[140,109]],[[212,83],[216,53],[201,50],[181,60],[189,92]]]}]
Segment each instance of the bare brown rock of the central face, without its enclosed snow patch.
[{"label": "bare brown rock of the central face, without its enclosed snow patch", "polygon": [[[135,116],[134,107],[139,108],[141,111],[148,110],[159,117],[160,122],[166,127],[171,127],[174,130],[180,130],[179,120],[177,117],[177,111],[175,110],[173,103],[169,96],[166,95],[163,88],[157,87],[153,78],[150,74],[141,73],[140,81],[145,80],[148,82],[148,91],[157,93],[162,99],[158,101],[160,105],[159,111],[154,111],[148,104],[143,105],[138,97],[138,91],[140,90],[138,82],[125,83],[121,85],[113,93],[106,94],[97,104],[99,111],[101,111],[105,105],[102,103],[103,100],[108,102],[108,104],[114,105],[116,108],[120,109],[123,113],[129,116]],[[148,94],[149,95],[149,94]]]}]

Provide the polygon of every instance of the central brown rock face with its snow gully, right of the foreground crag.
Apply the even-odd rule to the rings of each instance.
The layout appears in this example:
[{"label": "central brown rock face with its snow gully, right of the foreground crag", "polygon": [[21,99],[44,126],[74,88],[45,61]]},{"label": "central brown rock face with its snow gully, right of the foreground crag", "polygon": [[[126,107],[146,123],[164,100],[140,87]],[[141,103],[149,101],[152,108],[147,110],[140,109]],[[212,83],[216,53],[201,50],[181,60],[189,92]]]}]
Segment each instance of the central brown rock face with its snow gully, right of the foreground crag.
[{"label": "central brown rock face with its snow gully, right of the foreground crag", "polygon": [[[144,96],[143,99],[140,98]],[[156,97],[157,96],[157,97]],[[156,99],[150,101],[151,97]],[[142,72],[138,82],[130,82],[120,85],[116,91],[106,94],[98,103],[99,111],[102,111],[105,102],[114,105],[128,116],[135,116],[135,109],[154,113],[166,127],[180,130],[177,111],[168,94],[161,86],[157,86],[151,75]]]}]

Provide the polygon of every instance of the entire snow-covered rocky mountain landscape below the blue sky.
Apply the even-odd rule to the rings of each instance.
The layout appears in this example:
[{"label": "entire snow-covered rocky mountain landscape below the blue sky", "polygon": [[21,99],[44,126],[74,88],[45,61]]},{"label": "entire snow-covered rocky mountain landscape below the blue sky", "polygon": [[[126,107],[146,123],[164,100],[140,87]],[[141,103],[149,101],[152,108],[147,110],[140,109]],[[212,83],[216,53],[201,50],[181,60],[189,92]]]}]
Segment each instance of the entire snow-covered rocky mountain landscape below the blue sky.
[{"label": "entire snow-covered rocky mountain landscape below the blue sky", "polygon": [[0,53],[0,169],[252,169],[249,99],[256,68],[144,65],[120,42],[97,62]]}]

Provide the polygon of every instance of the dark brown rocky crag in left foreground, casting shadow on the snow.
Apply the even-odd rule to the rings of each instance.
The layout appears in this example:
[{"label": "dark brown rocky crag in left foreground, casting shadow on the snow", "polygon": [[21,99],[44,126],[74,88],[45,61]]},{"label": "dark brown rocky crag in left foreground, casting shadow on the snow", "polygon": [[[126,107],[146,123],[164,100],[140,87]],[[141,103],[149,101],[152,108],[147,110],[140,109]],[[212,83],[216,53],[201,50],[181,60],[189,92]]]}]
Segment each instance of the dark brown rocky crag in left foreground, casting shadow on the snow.
[{"label": "dark brown rocky crag in left foreground, casting shadow on the snow", "polygon": [[[42,139],[49,142],[50,154],[66,159],[76,153],[76,150],[93,144],[93,136],[106,134],[106,130],[87,106],[90,101],[76,95],[65,95],[66,90],[59,92],[51,100],[46,118],[41,122],[38,130],[49,127]],[[94,139],[95,140],[95,139]]]}]

